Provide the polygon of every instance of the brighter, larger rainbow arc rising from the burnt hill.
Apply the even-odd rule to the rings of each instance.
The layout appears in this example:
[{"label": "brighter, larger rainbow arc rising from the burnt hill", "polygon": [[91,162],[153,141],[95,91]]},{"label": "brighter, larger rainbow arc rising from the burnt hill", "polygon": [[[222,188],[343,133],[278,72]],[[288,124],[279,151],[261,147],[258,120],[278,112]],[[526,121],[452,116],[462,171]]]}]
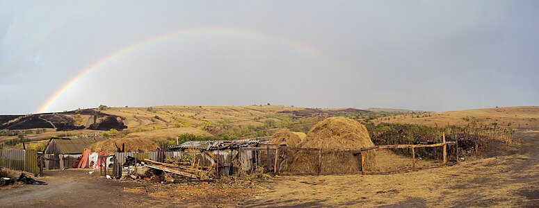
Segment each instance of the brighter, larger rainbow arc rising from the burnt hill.
[{"label": "brighter, larger rainbow arc rising from the burnt hill", "polygon": [[110,55],[105,56],[101,60],[98,60],[94,64],[90,65],[90,67],[87,67],[86,69],[83,69],[81,73],[79,73],[77,76],[72,78],[69,82],[67,82],[61,89],[59,89],[56,93],[54,93],[53,96],[51,96],[41,107],[37,110],[37,112],[47,112],[50,110],[51,106],[56,103],[64,94],[66,94],[69,89],[71,89],[74,85],[79,83],[83,78],[88,76],[92,71],[95,71],[96,69],[99,69],[99,67],[102,67],[104,64],[111,62],[115,60],[116,58],[119,58],[122,55],[126,55],[129,52],[136,51],[137,49],[141,49],[144,46],[150,46],[152,44],[156,44],[159,42],[166,42],[168,40],[172,40],[175,37],[182,37],[186,35],[201,35],[201,34],[231,34],[231,35],[250,35],[255,37],[262,37],[266,38],[268,40],[274,40],[277,42],[282,42],[284,44],[287,44],[289,46],[296,47],[298,49],[301,49],[302,51],[306,51],[307,53],[311,53],[313,55],[317,55],[319,57],[324,58],[325,60],[328,60],[332,62],[332,64],[337,65],[341,69],[346,69],[346,71],[351,71],[351,73],[355,73],[354,70],[350,69],[346,64],[338,60],[337,58],[333,57],[332,55],[328,55],[327,53],[323,53],[323,51],[320,51],[319,49],[314,48],[313,46],[310,46],[309,44],[305,44],[304,42],[298,42],[296,40],[291,40],[287,37],[280,37],[275,35],[268,35],[266,33],[260,33],[258,31],[250,31],[243,28],[230,28],[230,27],[203,27],[203,28],[190,28],[186,30],[179,30],[179,31],[172,31],[170,33],[165,33],[163,35],[156,35],[154,37],[147,38],[146,40],[137,42],[135,44],[131,44],[129,46],[125,46],[122,49],[119,49],[118,51],[115,51],[114,53],[111,53]]}]

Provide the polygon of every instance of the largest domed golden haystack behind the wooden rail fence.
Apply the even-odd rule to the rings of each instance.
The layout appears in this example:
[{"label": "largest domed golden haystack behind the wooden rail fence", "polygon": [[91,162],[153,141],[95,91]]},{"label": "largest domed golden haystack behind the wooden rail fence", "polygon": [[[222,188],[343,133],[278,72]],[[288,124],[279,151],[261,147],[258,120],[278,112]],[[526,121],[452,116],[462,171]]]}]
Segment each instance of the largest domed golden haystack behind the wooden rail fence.
[{"label": "largest domed golden haystack behind the wooden rail fence", "polygon": [[[361,123],[344,117],[325,119],[309,131],[307,138],[299,144],[302,148],[367,148],[374,146],[367,128]],[[377,171],[374,150],[367,151],[366,171]],[[300,151],[294,155],[289,166],[291,173],[317,173],[317,151]],[[360,173],[360,155],[352,152],[323,153],[322,174]]]}]

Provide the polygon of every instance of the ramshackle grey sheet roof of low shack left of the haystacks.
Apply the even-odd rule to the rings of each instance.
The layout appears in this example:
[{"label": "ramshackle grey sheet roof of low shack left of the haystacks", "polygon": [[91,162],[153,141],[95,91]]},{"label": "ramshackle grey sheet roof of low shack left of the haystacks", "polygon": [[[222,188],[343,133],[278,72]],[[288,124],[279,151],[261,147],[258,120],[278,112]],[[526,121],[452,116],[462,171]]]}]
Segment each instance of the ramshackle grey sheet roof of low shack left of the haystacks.
[{"label": "ramshackle grey sheet roof of low shack left of the haystacks", "polygon": [[238,148],[246,147],[252,144],[260,144],[264,141],[259,139],[238,139],[232,141],[226,140],[211,140],[211,141],[186,141],[183,144],[169,146],[169,150],[180,150],[180,149],[189,149],[195,148],[200,150],[217,150],[219,147],[220,150],[228,148]]}]

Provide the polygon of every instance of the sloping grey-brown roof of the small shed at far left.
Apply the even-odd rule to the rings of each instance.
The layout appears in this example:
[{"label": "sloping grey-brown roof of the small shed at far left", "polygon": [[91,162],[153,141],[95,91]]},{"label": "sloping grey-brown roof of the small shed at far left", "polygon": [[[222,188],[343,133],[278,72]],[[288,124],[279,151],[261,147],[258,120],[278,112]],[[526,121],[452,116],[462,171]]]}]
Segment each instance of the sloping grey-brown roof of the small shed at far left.
[{"label": "sloping grey-brown roof of the small shed at far left", "polygon": [[102,137],[88,137],[88,138],[65,138],[65,137],[52,137],[45,148],[45,154],[80,154],[86,148],[97,141],[103,141]]}]

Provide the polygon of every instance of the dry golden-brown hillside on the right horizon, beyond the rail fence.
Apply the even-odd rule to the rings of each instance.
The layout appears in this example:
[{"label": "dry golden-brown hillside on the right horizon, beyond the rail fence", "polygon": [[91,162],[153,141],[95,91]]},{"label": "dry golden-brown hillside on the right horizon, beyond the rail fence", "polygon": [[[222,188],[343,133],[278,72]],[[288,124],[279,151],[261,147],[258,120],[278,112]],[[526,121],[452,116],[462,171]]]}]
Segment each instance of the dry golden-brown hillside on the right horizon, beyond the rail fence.
[{"label": "dry golden-brown hillside on the right horizon, beyond the rail fence", "polygon": [[472,120],[479,125],[497,125],[513,129],[539,129],[539,107],[494,107],[476,110],[403,114],[375,119],[373,123],[412,123],[440,127],[445,125],[464,127]]}]

